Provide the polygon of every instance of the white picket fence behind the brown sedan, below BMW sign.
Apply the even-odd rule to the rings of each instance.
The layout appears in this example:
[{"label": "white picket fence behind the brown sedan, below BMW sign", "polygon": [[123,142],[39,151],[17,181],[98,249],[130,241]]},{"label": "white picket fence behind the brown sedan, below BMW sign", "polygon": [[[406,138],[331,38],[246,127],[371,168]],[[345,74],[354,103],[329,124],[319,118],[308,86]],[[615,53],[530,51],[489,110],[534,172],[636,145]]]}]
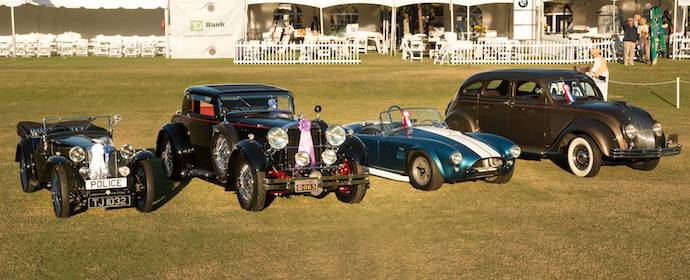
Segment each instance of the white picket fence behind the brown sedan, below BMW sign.
[{"label": "white picket fence behind the brown sedan, below BMW sign", "polygon": [[614,40],[521,43],[516,41],[458,42],[443,46],[435,63],[450,64],[578,64],[592,63],[593,49],[607,61],[616,60]]}]

